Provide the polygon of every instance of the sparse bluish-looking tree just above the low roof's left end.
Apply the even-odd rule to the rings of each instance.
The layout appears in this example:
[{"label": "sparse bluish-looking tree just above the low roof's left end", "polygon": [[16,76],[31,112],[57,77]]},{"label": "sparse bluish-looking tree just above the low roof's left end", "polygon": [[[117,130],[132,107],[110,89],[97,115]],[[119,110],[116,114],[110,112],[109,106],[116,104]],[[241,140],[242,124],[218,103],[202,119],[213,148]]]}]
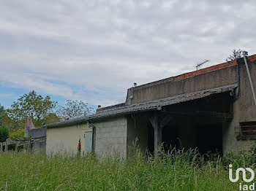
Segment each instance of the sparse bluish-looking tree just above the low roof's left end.
[{"label": "sparse bluish-looking tree just above the low roof's left end", "polygon": [[92,113],[92,108],[83,101],[67,100],[65,106],[59,106],[57,114],[62,120],[73,119],[75,117],[83,117]]}]

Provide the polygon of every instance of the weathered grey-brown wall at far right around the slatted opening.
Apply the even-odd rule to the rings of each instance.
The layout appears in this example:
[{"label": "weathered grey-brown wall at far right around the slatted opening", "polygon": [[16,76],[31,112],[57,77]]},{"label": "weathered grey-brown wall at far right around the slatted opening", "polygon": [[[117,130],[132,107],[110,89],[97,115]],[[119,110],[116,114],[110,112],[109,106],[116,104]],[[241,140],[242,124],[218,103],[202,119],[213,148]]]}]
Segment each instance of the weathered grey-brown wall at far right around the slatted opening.
[{"label": "weathered grey-brown wall at far right around the slatted opening", "polygon": [[[246,73],[244,61],[240,63],[241,74],[241,94],[233,104],[234,117],[231,121],[223,123],[223,152],[236,152],[239,149],[249,148],[254,141],[238,141],[236,136],[240,131],[239,122],[256,121],[256,106],[252,97],[252,90],[249,85],[249,78]],[[256,90],[256,62],[249,62],[249,71],[252,76],[252,82]]]}]

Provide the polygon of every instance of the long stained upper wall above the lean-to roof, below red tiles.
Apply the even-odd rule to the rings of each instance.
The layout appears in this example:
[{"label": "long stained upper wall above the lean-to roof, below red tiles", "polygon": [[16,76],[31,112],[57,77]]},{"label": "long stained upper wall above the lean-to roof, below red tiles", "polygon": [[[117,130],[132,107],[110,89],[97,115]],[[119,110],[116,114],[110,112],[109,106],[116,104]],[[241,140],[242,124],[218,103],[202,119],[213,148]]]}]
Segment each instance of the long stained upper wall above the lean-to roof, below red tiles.
[{"label": "long stained upper wall above the lean-to roof, below red tiles", "polygon": [[236,82],[236,66],[230,66],[225,69],[219,69],[217,71],[211,71],[180,80],[176,80],[174,77],[163,79],[146,85],[133,87],[133,98],[129,100],[129,96],[127,96],[127,104],[138,104],[145,101],[167,98],[173,95],[233,85]]}]

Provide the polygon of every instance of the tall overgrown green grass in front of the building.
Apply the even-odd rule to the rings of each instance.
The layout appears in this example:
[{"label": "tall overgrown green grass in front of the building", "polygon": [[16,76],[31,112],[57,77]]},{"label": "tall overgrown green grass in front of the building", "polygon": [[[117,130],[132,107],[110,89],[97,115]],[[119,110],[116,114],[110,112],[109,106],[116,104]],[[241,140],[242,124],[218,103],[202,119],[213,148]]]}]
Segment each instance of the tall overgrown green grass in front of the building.
[{"label": "tall overgrown green grass in front of the building", "polygon": [[240,165],[246,159],[207,158],[174,149],[156,159],[137,150],[129,160],[4,152],[0,190],[238,190],[228,179],[226,163]]}]

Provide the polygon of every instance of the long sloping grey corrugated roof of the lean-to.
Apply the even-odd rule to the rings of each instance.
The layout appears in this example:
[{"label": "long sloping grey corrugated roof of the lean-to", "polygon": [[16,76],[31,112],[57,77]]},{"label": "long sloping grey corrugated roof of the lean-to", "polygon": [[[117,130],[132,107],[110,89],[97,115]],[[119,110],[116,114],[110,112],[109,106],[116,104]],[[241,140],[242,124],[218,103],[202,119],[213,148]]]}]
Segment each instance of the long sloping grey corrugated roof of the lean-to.
[{"label": "long sloping grey corrugated roof of the lean-to", "polygon": [[227,85],[227,86],[222,86],[222,87],[216,87],[213,89],[209,90],[201,90],[197,91],[195,93],[185,93],[181,95],[175,95],[169,98],[162,98],[159,100],[154,100],[154,101],[148,101],[140,104],[132,104],[129,106],[118,106],[118,107],[113,107],[110,109],[102,110],[97,112],[96,114],[91,114],[86,117],[78,117],[72,120],[65,120],[61,122],[55,122],[52,124],[44,125],[43,127],[45,128],[54,128],[54,127],[59,127],[59,126],[64,126],[64,125],[72,125],[72,124],[78,124],[80,122],[86,122],[88,120],[97,120],[101,119],[104,117],[111,117],[111,116],[116,116],[120,114],[130,114],[130,113],[135,113],[135,112],[146,112],[150,110],[156,110],[159,107],[162,106],[168,106],[172,104],[178,104],[181,102],[185,101],[191,101],[195,100],[198,98],[204,98],[209,95],[213,95],[216,93],[223,93],[227,92],[230,90],[233,90],[236,88],[238,85]]}]

